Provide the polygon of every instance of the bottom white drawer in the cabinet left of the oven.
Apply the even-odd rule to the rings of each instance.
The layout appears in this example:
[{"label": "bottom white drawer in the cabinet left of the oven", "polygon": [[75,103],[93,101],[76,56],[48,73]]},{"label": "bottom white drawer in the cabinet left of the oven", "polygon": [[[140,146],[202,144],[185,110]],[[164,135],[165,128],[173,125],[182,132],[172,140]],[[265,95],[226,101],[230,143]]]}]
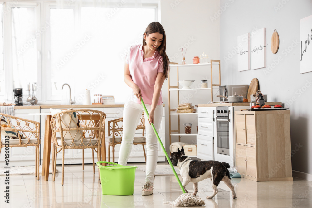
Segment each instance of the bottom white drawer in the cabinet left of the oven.
[{"label": "bottom white drawer in the cabinet left of the oven", "polygon": [[197,158],[213,160],[213,137],[197,135]]}]

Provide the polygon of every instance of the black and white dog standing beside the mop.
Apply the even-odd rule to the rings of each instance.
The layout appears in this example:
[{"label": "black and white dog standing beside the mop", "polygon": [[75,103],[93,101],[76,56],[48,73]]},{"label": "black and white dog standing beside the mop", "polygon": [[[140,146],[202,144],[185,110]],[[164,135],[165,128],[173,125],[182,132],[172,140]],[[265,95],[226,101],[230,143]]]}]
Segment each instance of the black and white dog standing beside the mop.
[{"label": "black and white dog standing beside the mop", "polygon": [[[188,191],[186,190],[185,186],[188,185],[189,182],[193,183],[193,194],[196,196],[198,192],[198,182],[207,178],[211,178],[213,194],[211,196],[207,196],[207,199],[213,198],[218,193],[218,185],[220,181],[223,181],[231,189],[233,199],[236,199],[234,186],[231,183],[230,172],[227,169],[230,168],[228,163],[214,160],[191,160],[190,157],[185,156],[183,147],[181,151],[178,148],[178,152],[171,153],[169,158],[173,166],[177,166],[179,168],[180,174],[183,178],[182,185],[187,193]],[[168,161],[167,163],[169,164]]]}]

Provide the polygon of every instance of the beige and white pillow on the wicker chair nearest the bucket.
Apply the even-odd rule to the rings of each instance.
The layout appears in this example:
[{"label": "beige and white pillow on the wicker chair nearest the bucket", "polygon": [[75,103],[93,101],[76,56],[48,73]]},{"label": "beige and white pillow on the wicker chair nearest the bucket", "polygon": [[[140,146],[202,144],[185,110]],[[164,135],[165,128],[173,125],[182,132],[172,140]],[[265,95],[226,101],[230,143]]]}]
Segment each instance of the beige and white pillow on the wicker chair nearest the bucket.
[{"label": "beige and white pillow on the wicker chair nearest the bucket", "polygon": [[[67,109],[67,110],[72,110],[72,108]],[[59,110],[59,109],[52,109],[50,108],[51,114],[57,114],[63,110]],[[78,128],[80,127],[80,121],[78,119],[78,116],[75,112],[72,113],[66,113],[66,114],[62,114],[61,115],[61,120],[62,120],[62,128]],[[59,123],[58,121],[55,122],[56,124],[56,128],[59,128]],[[64,136],[64,140],[72,140],[72,138],[74,138],[74,140],[76,141],[81,141],[81,137],[84,138],[84,133],[82,130],[72,130],[72,131],[63,131],[63,136]],[[58,138],[61,138],[61,135],[59,134],[59,132],[57,132],[57,136]]]}]

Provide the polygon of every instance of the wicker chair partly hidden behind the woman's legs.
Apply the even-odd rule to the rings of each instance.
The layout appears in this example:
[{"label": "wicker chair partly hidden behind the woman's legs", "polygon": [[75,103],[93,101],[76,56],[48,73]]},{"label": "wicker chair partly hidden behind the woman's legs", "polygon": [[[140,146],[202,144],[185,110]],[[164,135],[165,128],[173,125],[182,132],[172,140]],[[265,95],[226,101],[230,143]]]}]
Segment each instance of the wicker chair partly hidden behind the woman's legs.
[{"label": "wicker chair partly hidden behind the woman's legs", "polygon": [[[113,162],[115,162],[115,145],[121,144],[122,131],[123,131],[122,120],[123,118],[108,121],[108,139],[106,140],[106,142],[108,142],[108,161],[109,162],[110,162],[110,147],[112,147]],[[133,144],[142,145],[144,157],[145,157],[145,163],[146,163],[146,153],[145,153],[145,148],[144,148],[144,145],[146,145],[146,138],[144,137],[144,130],[145,130],[144,112],[142,113],[142,116],[141,116],[141,122],[137,126],[136,129],[142,129],[142,137],[134,137]]]}]

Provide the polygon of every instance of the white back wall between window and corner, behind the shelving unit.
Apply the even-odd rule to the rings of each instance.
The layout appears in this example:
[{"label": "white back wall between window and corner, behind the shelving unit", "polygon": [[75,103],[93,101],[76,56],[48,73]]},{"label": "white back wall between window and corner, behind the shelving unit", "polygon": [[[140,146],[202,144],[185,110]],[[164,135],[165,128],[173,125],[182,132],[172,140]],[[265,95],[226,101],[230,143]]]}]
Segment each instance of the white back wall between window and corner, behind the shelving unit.
[{"label": "white back wall between window and corner, behind the shelving unit", "polygon": [[[186,63],[193,63],[194,56],[200,56],[203,52],[208,55],[208,59],[219,60],[219,19],[211,21],[210,17],[219,8],[219,0],[161,0],[161,24],[163,25],[167,37],[167,55],[172,62],[182,63],[181,46],[188,47],[186,52]],[[177,58],[176,58],[176,57]],[[215,72],[215,71],[214,71]],[[216,74],[216,73],[214,73]],[[201,79],[210,78],[210,67],[183,68],[179,71],[179,80],[196,80],[191,87],[200,83]],[[170,72],[170,85],[177,85],[176,67]],[[169,120],[168,120],[168,80],[165,80],[163,88],[163,103],[166,104],[166,149],[169,152]],[[188,93],[180,93],[180,103],[185,103],[190,98],[193,105],[205,104],[210,100],[210,90],[194,92],[191,96]],[[217,92],[217,91],[216,91]],[[171,93],[171,109],[177,107],[176,92]],[[184,96],[183,96],[184,94]],[[195,115],[180,116],[181,129],[184,131],[183,123],[193,122],[192,133],[197,133],[197,119]],[[177,119],[172,121],[172,124]],[[178,126],[172,127],[177,129]],[[172,142],[177,142],[178,137],[174,136]],[[196,136],[182,137],[182,142],[196,143]]]}]

